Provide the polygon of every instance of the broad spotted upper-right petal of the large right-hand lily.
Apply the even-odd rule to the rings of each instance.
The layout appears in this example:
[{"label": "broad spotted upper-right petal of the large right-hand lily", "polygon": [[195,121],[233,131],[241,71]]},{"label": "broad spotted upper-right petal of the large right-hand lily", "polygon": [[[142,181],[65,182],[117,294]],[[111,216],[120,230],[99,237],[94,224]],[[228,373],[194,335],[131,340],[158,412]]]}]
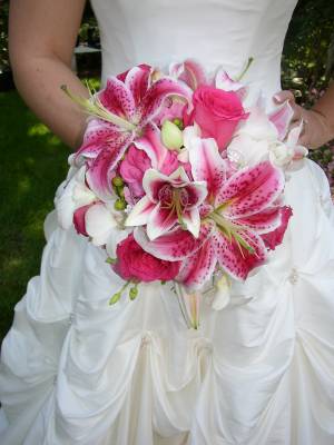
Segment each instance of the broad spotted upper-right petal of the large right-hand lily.
[{"label": "broad spotted upper-right petal of the large right-hand lily", "polygon": [[283,171],[264,161],[233,175],[222,187],[216,205],[226,205],[223,215],[228,218],[248,217],[271,206],[283,189]]}]

